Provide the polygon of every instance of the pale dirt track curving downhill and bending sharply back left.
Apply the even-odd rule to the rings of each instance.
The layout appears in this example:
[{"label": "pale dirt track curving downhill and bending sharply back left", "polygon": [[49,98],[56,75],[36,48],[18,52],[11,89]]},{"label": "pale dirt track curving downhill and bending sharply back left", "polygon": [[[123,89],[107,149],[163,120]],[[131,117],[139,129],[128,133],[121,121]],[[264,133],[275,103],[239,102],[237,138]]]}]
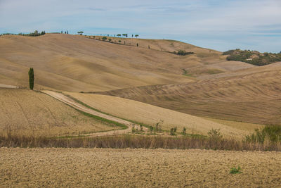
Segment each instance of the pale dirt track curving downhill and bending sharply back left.
[{"label": "pale dirt track curving downhill and bending sharply back left", "polygon": [[128,126],[128,128],[126,128],[126,130],[112,130],[112,131],[107,131],[107,132],[96,132],[96,133],[84,134],[84,135],[87,135],[90,137],[100,137],[100,136],[110,136],[110,135],[116,135],[116,134],[126,134],[126,133],[131,132],[133,125],[138,127],[138,125],[135,125],[129,121],[122,120],[120,118],[115,118],[111,115],[106,115],[106,114],[100,113],[98,111],[93,111],[90,108],[86,108],[85,106],[77,103],[76,101],[70,99],[69,97],[65,96],[64,94],[60,94],[58,92],[46,91],[46,90],[41,91],[41,92],[44,92],[45,94],[53,96],[53,98],[58,99],[59,101],[62,101],[63,103],[68,104],[74,108],[77,108],[80,111],[84,111],[86,113],[90,113],[92,115],[96,115],[98,117],[105,118],[107,120],[112,120],[117,123],[122,123],[123,125]]}]

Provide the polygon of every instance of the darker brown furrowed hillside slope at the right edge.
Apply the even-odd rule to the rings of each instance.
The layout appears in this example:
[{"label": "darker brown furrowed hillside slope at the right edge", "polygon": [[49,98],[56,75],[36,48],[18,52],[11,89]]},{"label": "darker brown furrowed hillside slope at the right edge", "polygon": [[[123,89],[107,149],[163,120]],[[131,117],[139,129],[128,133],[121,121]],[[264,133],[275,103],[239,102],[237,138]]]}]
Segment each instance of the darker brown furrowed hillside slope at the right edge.
[{"label": "darker brown furrowed hillside slope at the right edge", "polygon": [[281,63],[184,84],[98,92],[209,118],[281,124]]}]

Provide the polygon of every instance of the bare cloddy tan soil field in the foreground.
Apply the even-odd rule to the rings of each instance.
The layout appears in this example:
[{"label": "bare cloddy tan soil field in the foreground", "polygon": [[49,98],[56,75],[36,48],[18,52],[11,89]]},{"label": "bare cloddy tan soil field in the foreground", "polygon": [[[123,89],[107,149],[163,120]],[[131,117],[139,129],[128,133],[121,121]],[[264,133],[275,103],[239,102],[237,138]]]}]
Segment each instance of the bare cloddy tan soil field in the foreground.
[{"label": "bare cloddy tan soil field in the foreground", "polygon": [[[0,149],[0,187],[280,187],[281,153]],[[240,166],[240,174],[230,168]]]}]

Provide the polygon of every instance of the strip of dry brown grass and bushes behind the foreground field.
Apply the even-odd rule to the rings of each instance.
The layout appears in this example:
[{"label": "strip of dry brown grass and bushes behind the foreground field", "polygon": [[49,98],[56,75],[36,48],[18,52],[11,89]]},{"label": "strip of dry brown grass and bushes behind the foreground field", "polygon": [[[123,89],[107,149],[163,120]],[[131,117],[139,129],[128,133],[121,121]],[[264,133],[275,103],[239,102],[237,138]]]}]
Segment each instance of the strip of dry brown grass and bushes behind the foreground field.
[{"label": "strip of dry brown grass and bushes behind the foreground field", "polygon": [[281,151],[281,127],[268,126],[256,130],[246,139],[226,139],[218,130],[208,132],[208,137],[180,137],[159,135],[120,135],[113,137],[74,137],[58,139],[54,137],[25,137],[8,134],[0,136],[0,147],[63,147],[63,148],[144,148],[144,149],[219,149],[234,151]]}]

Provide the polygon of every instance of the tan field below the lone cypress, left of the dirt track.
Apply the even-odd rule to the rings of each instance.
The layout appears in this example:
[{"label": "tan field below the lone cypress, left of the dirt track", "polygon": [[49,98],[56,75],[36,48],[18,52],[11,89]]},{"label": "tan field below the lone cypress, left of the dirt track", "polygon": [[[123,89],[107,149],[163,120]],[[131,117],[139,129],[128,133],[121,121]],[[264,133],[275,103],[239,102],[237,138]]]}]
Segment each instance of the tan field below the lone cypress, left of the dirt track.
[{"label": "tan field below the lone cypress, left of the dirt track", "polygon": [[0,106],[0,133],[4,135],[53,137],[120,128],[28,89],[0,88]]}]

